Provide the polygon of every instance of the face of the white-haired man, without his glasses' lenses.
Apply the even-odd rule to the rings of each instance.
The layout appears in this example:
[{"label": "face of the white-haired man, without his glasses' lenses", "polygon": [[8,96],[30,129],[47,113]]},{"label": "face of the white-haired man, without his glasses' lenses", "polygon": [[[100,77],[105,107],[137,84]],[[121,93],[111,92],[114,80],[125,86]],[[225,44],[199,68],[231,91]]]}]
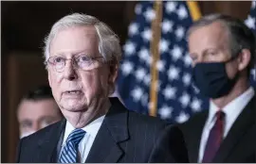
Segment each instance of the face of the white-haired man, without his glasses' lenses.
[{"label": "face of the white-haired man, without his glasses' lenses", "polygon": [[[65,57],[64,71],[48,68],[48,80],[53,96],[63,112],[87,111],[100,99],[108,97],[113,76],[107,64],[95,60],[97,67],[90,71],[73,67],[71,58],[85,55],[101,57],[99,38],[94,26],[75,26],[61,30],[50,46],[50,57]],[[87,111],[90,112],[90,111]]]}]

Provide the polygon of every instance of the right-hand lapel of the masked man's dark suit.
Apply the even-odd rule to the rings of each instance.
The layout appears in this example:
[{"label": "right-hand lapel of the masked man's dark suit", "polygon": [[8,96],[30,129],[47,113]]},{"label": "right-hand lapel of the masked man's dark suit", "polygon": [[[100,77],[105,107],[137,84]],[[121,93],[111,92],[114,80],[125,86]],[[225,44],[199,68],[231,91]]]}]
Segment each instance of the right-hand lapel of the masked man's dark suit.
[{"label": "right-hand lapel of the masked man's dark suit", "polygon": [[228,136],[223,140],[219,151],[213,158],[213,162],[224,162],[238,140],[243,138],[243,135],[247,132],[247,129],[249,129],[250,126],[255,123],[255,108],[256,105],[254,96],[231,126]]}]

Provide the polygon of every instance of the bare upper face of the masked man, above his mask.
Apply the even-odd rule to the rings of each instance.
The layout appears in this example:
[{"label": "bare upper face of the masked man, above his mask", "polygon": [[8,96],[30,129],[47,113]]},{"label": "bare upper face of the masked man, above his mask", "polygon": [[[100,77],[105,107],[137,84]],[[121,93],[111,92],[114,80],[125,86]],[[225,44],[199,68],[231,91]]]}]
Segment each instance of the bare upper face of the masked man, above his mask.
[{"label": "bare upper face of the masked man, above his mask", "polygon": [[[229,33],[220,22],[202,26],[189,37],[189,51],[192,57],[192,65],[199,62],[224,62],[231,58],[229,48]],[[237,73],[238,64],[232,60],[226,64],[229,78]]]}]

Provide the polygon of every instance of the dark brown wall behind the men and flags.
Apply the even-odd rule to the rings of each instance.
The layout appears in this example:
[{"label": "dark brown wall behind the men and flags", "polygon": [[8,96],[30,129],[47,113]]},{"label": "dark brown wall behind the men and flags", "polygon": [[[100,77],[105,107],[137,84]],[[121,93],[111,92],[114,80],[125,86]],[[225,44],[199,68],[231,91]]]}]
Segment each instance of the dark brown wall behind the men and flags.
[{"label": "dark brown wall behind the men and flags", "polygon": [[[136,4],[135,1],[1,2],[1,162],[14,162],[19,137],[16,107],[21,96],[47,83],[42,47],[51,25],[66,14],[83,12],[110,25],[123,44],[128,25],[135,17]],[[246,19],[250,1],[202,1],[199,6],[203,15],[221,12]]]}]

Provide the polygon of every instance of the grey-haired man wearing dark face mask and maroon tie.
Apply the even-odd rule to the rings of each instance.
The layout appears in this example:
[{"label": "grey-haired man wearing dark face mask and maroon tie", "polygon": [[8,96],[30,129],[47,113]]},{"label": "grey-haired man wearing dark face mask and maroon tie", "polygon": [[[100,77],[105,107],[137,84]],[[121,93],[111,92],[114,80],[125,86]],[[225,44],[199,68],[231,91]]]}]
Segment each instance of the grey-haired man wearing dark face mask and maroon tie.
[{"label": "grey-haired man wearing dark face mask and maroon tie", "polygon": [[255,163],[255,36],[240,20],[211,14],[192,25],[188,39],[195,85],[210,97],[209,110],[180,125],[190,161]]}]

